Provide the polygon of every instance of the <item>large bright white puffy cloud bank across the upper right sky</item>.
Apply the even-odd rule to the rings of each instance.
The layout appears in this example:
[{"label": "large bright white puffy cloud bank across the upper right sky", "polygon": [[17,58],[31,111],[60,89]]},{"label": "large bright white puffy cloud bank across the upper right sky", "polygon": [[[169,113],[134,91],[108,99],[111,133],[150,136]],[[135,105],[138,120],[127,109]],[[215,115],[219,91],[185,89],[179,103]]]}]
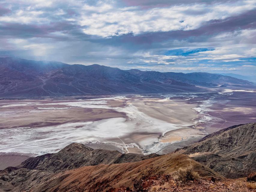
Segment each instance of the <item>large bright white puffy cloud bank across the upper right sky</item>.
[{"label": "large bright white puffy cloud bank across the upper right sky", "polygon": [[[144,32],[166,32],[173,30],[197,29],[206,21],[225,19],[256,7],[255,1],[237,1],[226,4],[182,4],[172,7],[152,8],[149,10],[124,10],[115,4],[84,5],[78,23],[84,26],[83,32],[102,37],[127,33],[135,35]],[[93,11],[88,13],[88,10]],[[191,15],[188,11],[199,11]],[[182,22],[181,22],[182,21]]]}]

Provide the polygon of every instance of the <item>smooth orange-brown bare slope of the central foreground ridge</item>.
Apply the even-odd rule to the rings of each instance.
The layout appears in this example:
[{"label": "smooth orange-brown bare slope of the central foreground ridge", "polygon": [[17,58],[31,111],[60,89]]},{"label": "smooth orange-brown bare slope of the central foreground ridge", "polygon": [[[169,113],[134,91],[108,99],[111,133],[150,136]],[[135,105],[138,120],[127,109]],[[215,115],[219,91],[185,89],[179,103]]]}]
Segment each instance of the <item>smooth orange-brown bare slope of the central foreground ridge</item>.
[{"label": "smooth orange-brown bare slope of the central foreground ridge", "polygon": [[172,174],[180,167],[191,164],[203,178],[223,178],[218,173],[202,166],[187,155],[175,153],[134,163],[81,167],[49,176],[30,191],[105,191],[111,187],[133,187],[135,180],[145,175]]}]

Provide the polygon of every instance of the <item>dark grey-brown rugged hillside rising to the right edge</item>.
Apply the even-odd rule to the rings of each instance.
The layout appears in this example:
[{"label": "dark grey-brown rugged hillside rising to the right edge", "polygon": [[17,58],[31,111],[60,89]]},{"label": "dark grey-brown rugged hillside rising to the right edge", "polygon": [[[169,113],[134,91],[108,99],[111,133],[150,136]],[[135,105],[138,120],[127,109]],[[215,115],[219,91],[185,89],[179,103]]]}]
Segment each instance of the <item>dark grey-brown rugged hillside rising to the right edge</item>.
[{"label": "dark grey-brown rugged hillside rising to the right edge", "polygon": [[227,178],[256,171],[256,123],[232,126],[177,149]]}]

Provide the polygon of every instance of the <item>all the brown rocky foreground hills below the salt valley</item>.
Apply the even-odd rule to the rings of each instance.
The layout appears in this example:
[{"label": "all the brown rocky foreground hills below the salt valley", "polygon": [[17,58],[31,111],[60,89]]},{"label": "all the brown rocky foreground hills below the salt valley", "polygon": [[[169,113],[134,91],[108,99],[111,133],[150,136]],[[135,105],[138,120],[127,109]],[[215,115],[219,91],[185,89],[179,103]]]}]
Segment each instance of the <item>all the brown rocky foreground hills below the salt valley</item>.
[{"label": "all the brown rocky foreground hills below the salt valley", "polygon": [[120,154],[72,143],[58,153],[0,171],[0,191],[255,192],[256,174],[247,178],[249,182],[222,176],[244,177],[255,171],[255,125],[226,128],[161,156]]}]

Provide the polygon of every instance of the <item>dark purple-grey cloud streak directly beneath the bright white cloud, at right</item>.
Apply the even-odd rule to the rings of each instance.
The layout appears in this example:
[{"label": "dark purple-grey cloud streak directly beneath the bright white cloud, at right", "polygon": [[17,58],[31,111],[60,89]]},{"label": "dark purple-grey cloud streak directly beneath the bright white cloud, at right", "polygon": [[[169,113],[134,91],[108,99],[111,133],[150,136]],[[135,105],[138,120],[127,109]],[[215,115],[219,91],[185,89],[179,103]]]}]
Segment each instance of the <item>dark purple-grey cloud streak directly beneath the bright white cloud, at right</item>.
[{"label": "dark purple-grey cloud streak directly beneath the bright white cloud, at right", "polygon": [[194,30],[177,30],[171,32],[156,32],[134,36],[133,34],[115,37],[122,39],[124,42],[133,42],[134,44],[152,44],[154,42],[166,41],[168,39],[188,39],[190,42],[205,41],[212,35],[222,32],[232,32],[242,29],[256,28],[256,10],[250,10],[238,16],[229,17],[226,19],[211,20],[204,23],[198,29]]}]

